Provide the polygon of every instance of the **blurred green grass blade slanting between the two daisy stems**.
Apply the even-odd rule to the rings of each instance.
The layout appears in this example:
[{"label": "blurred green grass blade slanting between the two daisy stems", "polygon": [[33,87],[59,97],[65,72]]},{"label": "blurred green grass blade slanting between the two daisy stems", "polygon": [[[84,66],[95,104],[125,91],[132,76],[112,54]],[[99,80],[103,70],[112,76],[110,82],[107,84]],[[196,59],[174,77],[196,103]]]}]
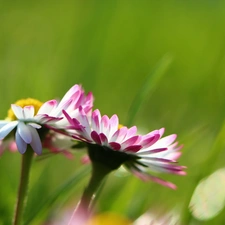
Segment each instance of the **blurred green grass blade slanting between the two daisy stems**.
[{"label": "blurred green grass blade slanting between the two daisy stems", "polygon": [[24,225],[29,225],[33,219],[43,212],[47,212],[49,208],[59,199],[68,193],[76,184],[78,184],[86,175],[90,173],[90,167],[82,167],[71,178],[57,188],[44,202],[34,207],[34,210],[29,213]]}]

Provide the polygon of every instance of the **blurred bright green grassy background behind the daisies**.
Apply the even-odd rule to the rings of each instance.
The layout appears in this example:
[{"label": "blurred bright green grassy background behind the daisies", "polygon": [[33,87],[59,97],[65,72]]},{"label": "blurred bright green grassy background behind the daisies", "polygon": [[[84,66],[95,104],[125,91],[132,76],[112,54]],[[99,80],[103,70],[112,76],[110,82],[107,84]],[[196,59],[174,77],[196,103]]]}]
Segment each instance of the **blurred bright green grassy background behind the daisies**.
[{"label": "blurred bright green grassy background behind the daisies", "polygon": [[[98,212],[135,220],[149,209],[164,214],[176,208],[190,224],[222,224],[224,209],[200,221],[188,215],[187,202],[199,173],[225,163],[225,134],[218,136],[225,115],[225,1],[1,1],[0,116],[4,119],[20,98],[61,98],[78,83],[93,92],[95,108],[118,114],[125,125],[134,97],[167,53],[173,61],[133,125],[141,132],[166,127],[166,135],[177,133],[184,144],[179,163],[188,167],[188,175],[161,176],[176,183],[177,191],[131,175],[111,175]],[[34,162],[28,212],[81,167],[81,155],[72,161],[55,155]],[[1,225],[11,224],[20,158],[10,152],[0,158]],[[73,209],[87,178],[30,224],[50,224],[51,218]]]}]

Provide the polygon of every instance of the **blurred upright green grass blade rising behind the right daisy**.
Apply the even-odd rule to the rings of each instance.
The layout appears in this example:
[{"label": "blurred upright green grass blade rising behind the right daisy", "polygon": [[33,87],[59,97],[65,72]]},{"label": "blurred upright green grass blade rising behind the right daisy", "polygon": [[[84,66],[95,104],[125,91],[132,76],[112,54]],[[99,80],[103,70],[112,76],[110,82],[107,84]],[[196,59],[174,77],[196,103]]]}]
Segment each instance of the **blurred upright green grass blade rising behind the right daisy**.
[{"label": "blurred upright green grass blade rising behind the right daisy", "polygon": [[140,91],[136,94],[133,102],[131,103],[128,116],[127,116],[127,126],[131,126],[138,111],[140,110],[142,104],[145,99],[149,97],[150,94],[153,93],[163,75],[166,73],[172,62],[172,56],[170,54],[166,54],[162,57],[162,59],[158,62],[155,68],[149,73],[149,75],[144,80]]}]

